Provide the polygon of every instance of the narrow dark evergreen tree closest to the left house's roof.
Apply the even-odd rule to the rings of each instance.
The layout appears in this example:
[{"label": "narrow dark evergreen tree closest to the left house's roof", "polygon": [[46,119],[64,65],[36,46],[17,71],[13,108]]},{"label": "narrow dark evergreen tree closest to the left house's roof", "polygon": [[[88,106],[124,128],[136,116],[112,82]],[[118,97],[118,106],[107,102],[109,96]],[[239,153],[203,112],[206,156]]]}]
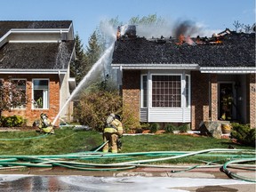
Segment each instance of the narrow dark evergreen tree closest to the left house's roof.
[{"label": "narrow dark evergreen tree closest to the left house's roof", "polygon": [[75,36],[75,41],[76,60],[72,61],[70,64],[70,76],[75,76],[76,83],[78,84],[84,76],[83,68],[85,66],[85,53],[83,44],[78,34]]}]

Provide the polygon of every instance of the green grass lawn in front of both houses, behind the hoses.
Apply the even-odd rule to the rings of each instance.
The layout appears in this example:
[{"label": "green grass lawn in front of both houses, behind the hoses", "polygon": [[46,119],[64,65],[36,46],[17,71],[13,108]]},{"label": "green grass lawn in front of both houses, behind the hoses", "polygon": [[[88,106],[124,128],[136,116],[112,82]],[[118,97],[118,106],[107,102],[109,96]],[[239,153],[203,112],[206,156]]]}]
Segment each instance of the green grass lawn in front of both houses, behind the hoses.
[{"label": "green grass lawn in front of both houses, behind the hoses", "polygon": [[[48,135],[40,139],[30,139],[29,137],[39,136],[36,131],[28,132],[1,132],[0,134],[0,155],[59,155],[94,150],[102,144],[102,135],[99,132],[80,131],[75,132],[70,128],[56,129],[55,134]],[[3,140],[3,139],[20,140]],[[25,139],[25,140],[24,140]],[[209,137],[193,137],[190,135],[177,134],[156,134],[124,136],[123,153],[148,152],[148,151],[197,151],[208,148],[228,148],[229,145],[239,149],[253,149],[248,146],[241,146],[232,143],[231,140],[214,139]],[[126,156],[127,157],[127,156]],[[156,156],[153,156],[154,158]],[[158,157],[158,156],[157,156]],[[125,160],[132,160],[134,157],[128,156]],[[140,156],[139,159],[152,158],[152,156]],[[120,159],[119,159],[120,160]],[[169,160],[166,163],[194,163],[202,160],[198,156],[184,158],[183,160]],[[218,157],[210,156],[204,161],[221,161]],[[87,160],[88,161],[88,160]],[[100,163],[115,162],[115,158],[108,158]],[[93,162],[96,163],[95,159]],[[98,162],[97,162],[98,163]],[[157,163],[156,163],[157,164]]]}]

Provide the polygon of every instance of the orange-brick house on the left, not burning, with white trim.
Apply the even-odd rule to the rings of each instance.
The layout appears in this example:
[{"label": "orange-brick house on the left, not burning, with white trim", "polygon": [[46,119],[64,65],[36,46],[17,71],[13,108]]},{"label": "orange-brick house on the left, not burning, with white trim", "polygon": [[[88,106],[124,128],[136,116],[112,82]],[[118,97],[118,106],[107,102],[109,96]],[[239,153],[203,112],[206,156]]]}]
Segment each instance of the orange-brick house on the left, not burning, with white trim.
[{"label": "orange-brick house on the left, not burning, with white trim", "polygon": [[[71,20],[0,21],[0,80],[16,82],[28,98],[26,104],[3,115],[23,116],[32,125],[46,113],[52,121],[76,87],[69,76],[74,59]],[[72,103],[60,117],[69,121],[71,113]]]}]

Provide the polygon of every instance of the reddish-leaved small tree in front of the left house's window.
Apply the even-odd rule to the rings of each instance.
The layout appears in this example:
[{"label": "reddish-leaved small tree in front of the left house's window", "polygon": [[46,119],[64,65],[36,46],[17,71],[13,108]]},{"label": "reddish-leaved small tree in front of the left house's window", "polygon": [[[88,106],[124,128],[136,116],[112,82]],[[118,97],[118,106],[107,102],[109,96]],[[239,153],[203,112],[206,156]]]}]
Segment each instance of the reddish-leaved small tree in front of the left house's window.
[{"label": "reddish-leaved small tree in front of the left house's window", "polygon": [[[18,82],[19,83],[19,82]],[[0,117],[3,111],[11,111],[28,102],[26,92],[12,80],[1,81],[0,84]]]}]

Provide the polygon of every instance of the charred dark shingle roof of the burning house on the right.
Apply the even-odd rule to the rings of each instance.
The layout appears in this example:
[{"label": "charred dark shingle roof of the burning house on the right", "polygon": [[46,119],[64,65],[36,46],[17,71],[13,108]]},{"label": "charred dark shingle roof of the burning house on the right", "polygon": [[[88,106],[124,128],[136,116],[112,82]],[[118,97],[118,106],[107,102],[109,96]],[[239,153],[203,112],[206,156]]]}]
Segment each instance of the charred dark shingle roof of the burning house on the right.
[{"label": "charred dark shingle roof of the burning house on the right", "polygon": [[222,44],[188,45],[144,37],[116,41],[113,64],[198,64],[200,67],[255,67],[255,33],[223,36]]}]

